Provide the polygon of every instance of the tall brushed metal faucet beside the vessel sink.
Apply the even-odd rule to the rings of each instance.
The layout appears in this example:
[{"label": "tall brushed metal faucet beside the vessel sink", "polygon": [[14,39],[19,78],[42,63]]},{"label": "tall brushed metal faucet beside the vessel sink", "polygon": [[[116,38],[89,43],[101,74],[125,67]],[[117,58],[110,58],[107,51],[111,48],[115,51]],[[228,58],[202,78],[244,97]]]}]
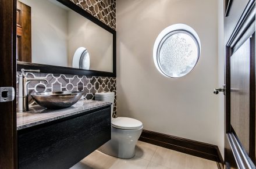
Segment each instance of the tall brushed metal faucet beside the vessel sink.
[{"label": "tall brushed metal faucet beside the vessel sink", "polygon": [[41,81],[48,84],[46,78],[28,78],[25,72],[40,72],[40,70],[24,70],[19,75],[19,89],[18,89],[18,106],[17,112],[29,111],[29,90],[28,85],[31,81]]}]

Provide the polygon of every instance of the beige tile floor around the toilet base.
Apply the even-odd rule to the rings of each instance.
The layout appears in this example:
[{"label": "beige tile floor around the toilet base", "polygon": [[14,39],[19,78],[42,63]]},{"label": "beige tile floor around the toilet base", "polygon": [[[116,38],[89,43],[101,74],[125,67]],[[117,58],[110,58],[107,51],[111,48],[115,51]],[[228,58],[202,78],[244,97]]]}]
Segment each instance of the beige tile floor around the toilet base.
[{"label": "beige tile floor around the toilet base", "polygon": [[118,159],[98,150],[70,169],[218,169],[216,162],[138,141],[132,159]]}]

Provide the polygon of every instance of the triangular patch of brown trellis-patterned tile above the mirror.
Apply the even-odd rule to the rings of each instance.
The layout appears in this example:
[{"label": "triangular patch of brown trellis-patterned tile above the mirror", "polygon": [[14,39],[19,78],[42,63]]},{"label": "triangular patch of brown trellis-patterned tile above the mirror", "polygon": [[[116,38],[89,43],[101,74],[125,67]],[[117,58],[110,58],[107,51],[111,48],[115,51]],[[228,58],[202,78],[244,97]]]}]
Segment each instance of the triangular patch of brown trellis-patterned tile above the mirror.
[{"label": "triangular patch of brown trellis-patterned tile above the mirror", "polygon": [[70,0],[107,26],[116,29],[116,0]]}]

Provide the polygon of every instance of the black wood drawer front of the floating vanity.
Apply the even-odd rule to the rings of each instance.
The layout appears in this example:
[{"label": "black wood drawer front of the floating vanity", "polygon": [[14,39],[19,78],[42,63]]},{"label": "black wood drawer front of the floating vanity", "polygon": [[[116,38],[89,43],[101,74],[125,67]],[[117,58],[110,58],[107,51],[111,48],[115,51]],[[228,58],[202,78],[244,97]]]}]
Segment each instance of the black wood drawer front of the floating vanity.
[{"label": "black wood drawer front of the floating vanity", "polygon": [[111,108],[18,131],[19,168],[70,168],[111,139]]}]

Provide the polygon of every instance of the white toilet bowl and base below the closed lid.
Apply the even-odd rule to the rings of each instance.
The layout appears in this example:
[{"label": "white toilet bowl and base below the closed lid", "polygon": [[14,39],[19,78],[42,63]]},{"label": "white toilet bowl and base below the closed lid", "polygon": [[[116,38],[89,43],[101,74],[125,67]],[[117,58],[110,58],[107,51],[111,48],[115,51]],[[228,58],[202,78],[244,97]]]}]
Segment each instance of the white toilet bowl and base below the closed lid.
[{"label": "white toilet bowl and base below the closed lid", "polygon": [[111,127],[111,140],[98,150],[110,156],[121,159],[131,159],[135,156],[135,146],[143,127],[138,130],[122,130]]}]

